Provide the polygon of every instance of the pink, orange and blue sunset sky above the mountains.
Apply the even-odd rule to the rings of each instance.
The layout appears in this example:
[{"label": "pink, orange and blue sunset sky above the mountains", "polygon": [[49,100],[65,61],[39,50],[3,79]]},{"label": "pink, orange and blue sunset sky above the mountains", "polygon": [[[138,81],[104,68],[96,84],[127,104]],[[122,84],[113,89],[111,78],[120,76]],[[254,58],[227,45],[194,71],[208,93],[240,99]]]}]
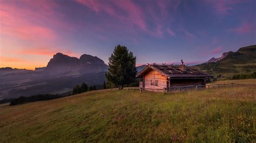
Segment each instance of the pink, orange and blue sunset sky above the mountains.
[{"label": "pink, orange and blue sunset sky above the mountains", "polygon": [[0,67],[45,67],[58,52],[107,64],[126,46],[146,63],[202,63],[256,44],[254,0],[0,0]]}]

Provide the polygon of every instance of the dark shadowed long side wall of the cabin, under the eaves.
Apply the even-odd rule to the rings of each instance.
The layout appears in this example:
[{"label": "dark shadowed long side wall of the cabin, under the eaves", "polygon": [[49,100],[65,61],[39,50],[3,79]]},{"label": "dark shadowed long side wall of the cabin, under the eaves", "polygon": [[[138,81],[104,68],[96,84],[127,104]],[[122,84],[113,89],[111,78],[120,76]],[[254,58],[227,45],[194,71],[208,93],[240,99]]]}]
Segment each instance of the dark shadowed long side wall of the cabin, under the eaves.
[{"label": "dark shadowed long side wall of the cabin, under the eaves", "polygon": [[204,79],[171,79],[172,86],[205,85]]}]

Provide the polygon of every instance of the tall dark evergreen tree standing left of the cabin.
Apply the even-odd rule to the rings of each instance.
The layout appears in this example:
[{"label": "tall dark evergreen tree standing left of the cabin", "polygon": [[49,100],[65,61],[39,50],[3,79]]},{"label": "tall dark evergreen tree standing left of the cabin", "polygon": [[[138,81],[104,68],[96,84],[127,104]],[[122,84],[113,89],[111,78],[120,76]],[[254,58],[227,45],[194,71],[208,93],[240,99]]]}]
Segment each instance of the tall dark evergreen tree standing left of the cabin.
[{"label": "tall dark evergreen tree standing left of the cabin", "polygon": [[107,81],[122,89],[124,84],[129,85],[135,80],[136,73],[136,56],[125,46],[114,47],[109,58],[109,71],[105,74]]}]

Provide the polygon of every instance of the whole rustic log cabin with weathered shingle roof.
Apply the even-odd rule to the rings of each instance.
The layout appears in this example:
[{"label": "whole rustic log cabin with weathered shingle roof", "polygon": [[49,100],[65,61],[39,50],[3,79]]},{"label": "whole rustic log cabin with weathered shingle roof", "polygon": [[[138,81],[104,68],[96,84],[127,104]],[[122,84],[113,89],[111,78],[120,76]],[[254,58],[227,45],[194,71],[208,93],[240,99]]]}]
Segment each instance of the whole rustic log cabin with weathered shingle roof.
[{"label": "whole rustic log cabin with weathered shingle roof", "polygon": [[212,75],[183,65],[148,64],[137,75],[142,78],[140,88],[150,91],[180,89],[181,87],[205,88],[205,82]]}]

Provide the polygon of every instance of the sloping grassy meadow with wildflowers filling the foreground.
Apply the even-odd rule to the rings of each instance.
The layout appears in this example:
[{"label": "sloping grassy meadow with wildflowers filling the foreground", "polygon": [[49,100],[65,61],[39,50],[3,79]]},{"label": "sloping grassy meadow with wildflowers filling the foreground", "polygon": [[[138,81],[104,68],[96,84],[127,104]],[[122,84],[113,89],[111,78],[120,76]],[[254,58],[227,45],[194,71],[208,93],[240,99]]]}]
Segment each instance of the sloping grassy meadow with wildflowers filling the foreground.
[{"label": "sloping grassy meadow with wildflowers filling the foreground", "polygon": [[255,96],[254,84],[166,95],[90,91],[52,101],[2,104],[0,142],[253,142]]}]

